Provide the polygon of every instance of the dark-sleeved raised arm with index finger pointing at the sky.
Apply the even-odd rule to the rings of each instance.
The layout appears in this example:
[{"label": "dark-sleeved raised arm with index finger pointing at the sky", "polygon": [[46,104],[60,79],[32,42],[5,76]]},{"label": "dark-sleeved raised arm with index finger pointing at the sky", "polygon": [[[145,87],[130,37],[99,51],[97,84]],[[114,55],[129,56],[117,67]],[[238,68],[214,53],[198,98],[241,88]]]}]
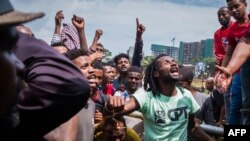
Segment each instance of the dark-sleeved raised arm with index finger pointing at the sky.
[{"label": "dark-sleeved raised arm with index finger pointing at the sky", "polygon": [[143,40],[142,40],[142,34],[145,31],[145,26],[143,24],[139,23],[138,18],[136,18],[136,39],[135,39],[135,48],[134,48],[134,54],[132,58],[132,66],[141,66],[141,60],[143,57],[142,54],[142,47],[143,47]]}]

